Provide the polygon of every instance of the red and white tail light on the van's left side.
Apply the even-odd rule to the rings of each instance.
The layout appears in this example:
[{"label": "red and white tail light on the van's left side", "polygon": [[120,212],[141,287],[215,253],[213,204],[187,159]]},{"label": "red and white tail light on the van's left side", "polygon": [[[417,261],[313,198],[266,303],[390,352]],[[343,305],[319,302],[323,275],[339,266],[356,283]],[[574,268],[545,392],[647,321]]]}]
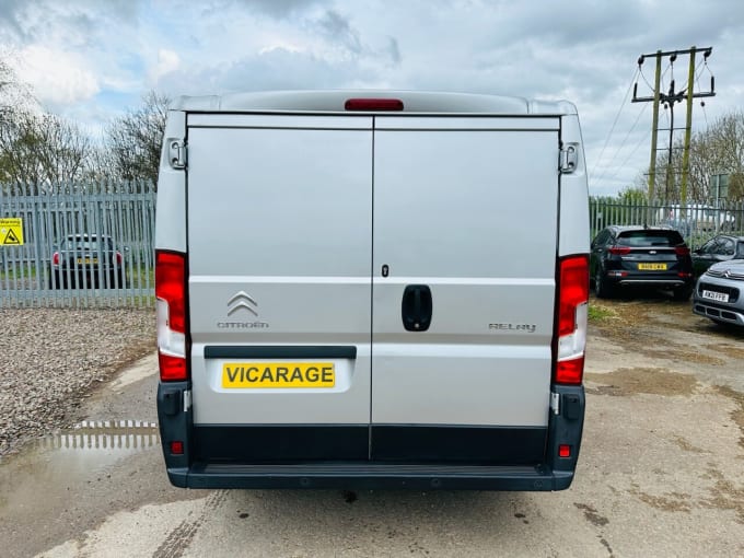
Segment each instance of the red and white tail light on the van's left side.
[{"label": "red and white tail light on the van's left side", "polygon": [[163,382],[188,380],[186,359],[186,256],[155,253],[158,361]]}]

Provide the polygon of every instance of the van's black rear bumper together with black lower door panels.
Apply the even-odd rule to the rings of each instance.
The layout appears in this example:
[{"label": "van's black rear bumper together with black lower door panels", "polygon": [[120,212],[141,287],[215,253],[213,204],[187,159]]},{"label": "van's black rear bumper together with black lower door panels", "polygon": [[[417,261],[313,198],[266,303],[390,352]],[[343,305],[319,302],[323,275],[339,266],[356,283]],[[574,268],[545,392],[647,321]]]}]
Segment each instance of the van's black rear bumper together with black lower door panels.
[{"label": "van's black rear bumper together with black lower door panels", "polygon": [[[183,488],[563,490],[573,480],[585,406],[583,386],[554,386],[559,403],[547,428],[195,426],[183,405],[188,388],[158,390],[167,475]],[[182,453],[172,453],[174,441]]]}]

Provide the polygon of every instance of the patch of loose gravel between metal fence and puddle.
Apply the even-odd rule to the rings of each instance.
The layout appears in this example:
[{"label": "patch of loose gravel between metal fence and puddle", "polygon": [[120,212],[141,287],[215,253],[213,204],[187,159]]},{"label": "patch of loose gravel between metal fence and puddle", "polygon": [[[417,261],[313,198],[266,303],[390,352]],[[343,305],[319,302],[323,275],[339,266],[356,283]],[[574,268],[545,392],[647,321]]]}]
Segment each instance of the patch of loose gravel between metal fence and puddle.
[{"label": "patch of loose gravel between metal fence and puddle", "polygon": [[155,350],[153,310],[0,309],[0,456],[70,425],[97,384]]}]

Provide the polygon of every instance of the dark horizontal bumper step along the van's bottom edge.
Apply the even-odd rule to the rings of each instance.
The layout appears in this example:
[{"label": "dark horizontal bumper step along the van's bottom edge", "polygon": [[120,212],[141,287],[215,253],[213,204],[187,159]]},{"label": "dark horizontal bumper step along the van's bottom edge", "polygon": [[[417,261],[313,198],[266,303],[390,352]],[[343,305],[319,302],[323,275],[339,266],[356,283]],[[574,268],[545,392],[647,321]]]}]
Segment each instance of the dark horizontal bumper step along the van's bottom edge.
[{"label": "dark horizontal bumper step along the van's bottom edge", "polygon": [[563,490],[573,472],[538,466],[302,464],[243,465],[195,463],[171,468],[184,488],[340,488],[415,490]]}]

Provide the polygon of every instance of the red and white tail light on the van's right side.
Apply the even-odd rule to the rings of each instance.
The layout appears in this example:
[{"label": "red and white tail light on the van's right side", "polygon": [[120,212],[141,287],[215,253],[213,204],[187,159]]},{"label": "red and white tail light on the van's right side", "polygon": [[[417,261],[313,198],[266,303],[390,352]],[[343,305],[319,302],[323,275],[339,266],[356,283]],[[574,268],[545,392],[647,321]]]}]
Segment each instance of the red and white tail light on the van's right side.
[{"label": "red and white tail light on the van's right side", "polygon": [[562,258],[558,270],[556,364],[558,384],[580,385],[584,375],[589,310],[589,257]]}]

